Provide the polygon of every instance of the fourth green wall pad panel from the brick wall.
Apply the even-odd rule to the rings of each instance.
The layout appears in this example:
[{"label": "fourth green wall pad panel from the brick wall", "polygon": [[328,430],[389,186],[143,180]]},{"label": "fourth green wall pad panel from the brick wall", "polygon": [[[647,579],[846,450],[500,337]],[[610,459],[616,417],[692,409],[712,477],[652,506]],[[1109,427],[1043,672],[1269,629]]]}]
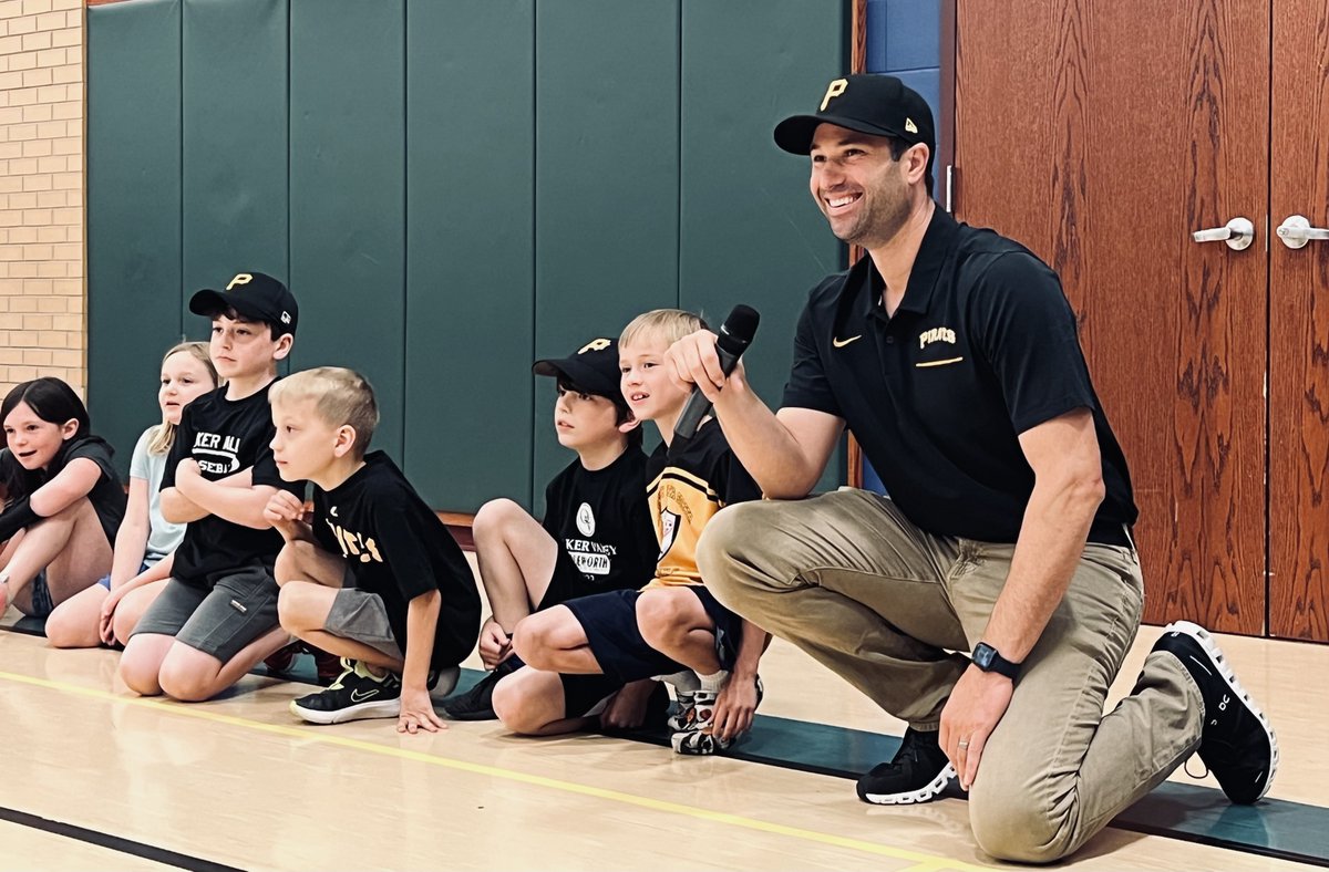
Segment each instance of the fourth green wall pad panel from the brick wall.
[{"label": "fourth green wall pad panel from the brick wall", "polygon": [[534,7],[407,9],[404,469],[445,508],[532,488]]}]

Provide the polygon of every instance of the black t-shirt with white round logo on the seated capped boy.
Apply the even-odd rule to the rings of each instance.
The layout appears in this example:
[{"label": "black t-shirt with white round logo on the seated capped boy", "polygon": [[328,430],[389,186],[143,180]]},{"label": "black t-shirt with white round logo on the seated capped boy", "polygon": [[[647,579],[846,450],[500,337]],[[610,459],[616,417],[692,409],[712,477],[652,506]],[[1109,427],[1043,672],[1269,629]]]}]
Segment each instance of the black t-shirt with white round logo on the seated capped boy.
[{"label": "black t-shirt with white round logo on the seated capped boy", "polygon": [[545,532],[602,591],[637,589],[655,572],[659,547],[646,502],[646,455],[630,447],[602,470],[581,459],[545,488]]}]

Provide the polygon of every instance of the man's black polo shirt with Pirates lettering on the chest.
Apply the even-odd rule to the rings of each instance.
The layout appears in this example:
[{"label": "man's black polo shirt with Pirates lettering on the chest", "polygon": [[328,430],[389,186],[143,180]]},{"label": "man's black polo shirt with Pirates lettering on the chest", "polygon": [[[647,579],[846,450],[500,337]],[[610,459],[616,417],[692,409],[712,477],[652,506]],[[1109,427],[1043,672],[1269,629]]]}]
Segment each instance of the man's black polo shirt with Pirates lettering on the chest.
[{"label": "man's black polo shirt with Pirates lettering on the chest", "polygon": [[1088,409],[1107,488],[1088,539],[1126,544],[1130,472],[1057,273],[938,207],[893,317],[884,287],[863,257],[812,291],[784,406],[843,418],[922,530],[1002,543],[1017,540],[1034,488],[1019,434]]}]

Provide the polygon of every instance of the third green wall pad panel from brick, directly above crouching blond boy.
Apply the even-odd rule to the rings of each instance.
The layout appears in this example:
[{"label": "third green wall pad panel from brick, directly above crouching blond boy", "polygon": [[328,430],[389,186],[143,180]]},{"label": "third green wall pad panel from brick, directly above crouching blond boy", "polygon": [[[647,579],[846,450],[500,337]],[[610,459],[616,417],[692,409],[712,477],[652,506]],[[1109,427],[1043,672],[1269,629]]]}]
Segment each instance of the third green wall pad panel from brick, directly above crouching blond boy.
[{"label": "third green wall pad panel from brick, directly above crouching blond boy", "polygon": [[401,462],[405,4],[291,1],[291,368],[373,385],[373,446]]}]

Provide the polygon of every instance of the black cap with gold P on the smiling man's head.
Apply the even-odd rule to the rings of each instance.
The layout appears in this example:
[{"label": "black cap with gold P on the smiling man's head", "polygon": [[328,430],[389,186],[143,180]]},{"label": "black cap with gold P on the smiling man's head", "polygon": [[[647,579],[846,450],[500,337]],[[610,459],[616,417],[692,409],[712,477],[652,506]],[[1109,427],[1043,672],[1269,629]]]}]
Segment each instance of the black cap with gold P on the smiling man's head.
[{"label": "black cap with gold P on the smiling man's head", "polygon": [[791,115],[775,126],[775,145],[791,154],[808,154],[812,134],[824,123],[909,145],[921,142],[928,146],[929,170],[937,151],[928,101],[894,76],[859,74],[832,81],[815,114]]}]

